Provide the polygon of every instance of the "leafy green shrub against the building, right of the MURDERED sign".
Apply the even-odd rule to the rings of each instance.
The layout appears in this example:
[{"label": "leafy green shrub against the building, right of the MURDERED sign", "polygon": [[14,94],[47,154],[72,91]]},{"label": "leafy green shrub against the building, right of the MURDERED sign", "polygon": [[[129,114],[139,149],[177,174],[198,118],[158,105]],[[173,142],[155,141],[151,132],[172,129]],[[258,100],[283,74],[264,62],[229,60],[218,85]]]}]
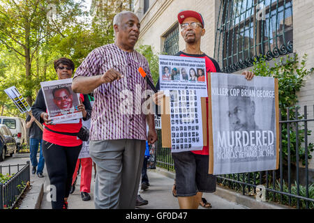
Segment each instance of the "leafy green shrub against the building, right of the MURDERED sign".
[{"label": "leafy green shrub against the building, right of the MURDERED sign", "polygon": [[[278,79],[278,98],[279,98],[279,109],[281,109],[281,120],[287,120],[287,110],[289,110],[289,119],[298,120],[304,118],[299,114],[299,107],[296,106],[297,92],[300,91],[301,87],[304,86],[304,79],[308,75],[311,75],[314,68],[306,69],[306,58],[305,54],[302,56],[301,62],[299,62],[298,55],[294,57],[287,56],[284,60],[283,57],[278,62],[275,62],[274,66],[270,67],[266,61],[255,63],[253,72],[255,75],[262,77],[274,77]],[[299,123],[298,134],[296,133],[296,124],[291,123],[289,134],[290,134],[290,157],[292,162],[297,162],[297,147],[299,148],[299,160],[302,164],[305,164],[306,154],[305,148],[302,146],[305,139],[304,125]],[[308,130],[308,135],[311,135],[311,130]],[[298,144],[297,144],[298,136]],[[287,123],[283,123],[282,131],[282,148],[283,157],[287,162],[288,156],[288,128]],[[314,144],[308,144],[308,159],[312,158],[311,152],[314,151]]]}]

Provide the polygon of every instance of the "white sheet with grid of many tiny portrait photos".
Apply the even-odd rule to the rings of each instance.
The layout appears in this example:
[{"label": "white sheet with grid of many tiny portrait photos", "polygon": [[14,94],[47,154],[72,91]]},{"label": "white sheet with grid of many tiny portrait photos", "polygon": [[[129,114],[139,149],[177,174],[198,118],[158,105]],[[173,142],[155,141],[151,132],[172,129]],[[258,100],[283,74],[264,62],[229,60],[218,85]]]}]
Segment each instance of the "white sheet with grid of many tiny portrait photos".
[{"label": "white sheet with grid of many tiny portrait photos", "polygon": [[[195,90],[170,91],[172,150],[190,150],[201,140],[202,121],[199,117]],[[202,142],[201,142],[202,143]]]}]

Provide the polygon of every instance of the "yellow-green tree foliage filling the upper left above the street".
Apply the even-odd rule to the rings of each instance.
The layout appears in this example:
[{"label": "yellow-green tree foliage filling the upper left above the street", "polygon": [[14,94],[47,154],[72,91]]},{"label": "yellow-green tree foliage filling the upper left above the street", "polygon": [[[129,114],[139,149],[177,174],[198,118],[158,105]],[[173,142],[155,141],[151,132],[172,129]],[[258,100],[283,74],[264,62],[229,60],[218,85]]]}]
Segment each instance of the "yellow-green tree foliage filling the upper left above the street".
[{"label": "yellow-green tree foliage filling the upper left above the street", "polygon": [[[54,60],[68,57],[77,68],[93,49],[114,42],[113,17],[129,10],[130,0],[93,0],[91,21],[82,3],[1,0],[0,115],[26,118],[3,89],[16,86],[32,104],[40,82],[57,79]],[[55,8],[48,7],[50,4]],[[51,12],[55,17],[48,20]]]}]

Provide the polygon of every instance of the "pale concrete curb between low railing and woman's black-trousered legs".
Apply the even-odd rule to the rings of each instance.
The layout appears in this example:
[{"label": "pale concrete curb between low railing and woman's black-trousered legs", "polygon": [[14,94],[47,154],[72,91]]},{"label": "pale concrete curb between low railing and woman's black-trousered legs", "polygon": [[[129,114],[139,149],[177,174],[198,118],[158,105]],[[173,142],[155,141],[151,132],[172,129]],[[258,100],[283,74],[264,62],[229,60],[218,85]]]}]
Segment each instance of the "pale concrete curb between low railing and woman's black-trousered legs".
[{"label": "pale concrete curb between low railing and woman's black-trousered legs", "polygon": [[[46,176],[47,177],[47,176]],[[43,200],[46,177],[43,180],[31,180],[31,190],[24,197],[19,209],[39,209]]]}]

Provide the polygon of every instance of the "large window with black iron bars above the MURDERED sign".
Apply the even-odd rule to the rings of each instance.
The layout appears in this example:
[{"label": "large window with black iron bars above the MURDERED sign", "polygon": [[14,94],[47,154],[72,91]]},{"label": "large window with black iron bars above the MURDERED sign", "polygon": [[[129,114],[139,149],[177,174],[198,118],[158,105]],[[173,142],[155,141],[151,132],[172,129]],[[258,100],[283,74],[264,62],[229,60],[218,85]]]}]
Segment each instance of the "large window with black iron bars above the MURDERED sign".
[{"label": "large window with black iron bars above the MURDERED sign", "polygon": [[292,52],[292,0],[221,0],[215,58],[223,72]]}]

